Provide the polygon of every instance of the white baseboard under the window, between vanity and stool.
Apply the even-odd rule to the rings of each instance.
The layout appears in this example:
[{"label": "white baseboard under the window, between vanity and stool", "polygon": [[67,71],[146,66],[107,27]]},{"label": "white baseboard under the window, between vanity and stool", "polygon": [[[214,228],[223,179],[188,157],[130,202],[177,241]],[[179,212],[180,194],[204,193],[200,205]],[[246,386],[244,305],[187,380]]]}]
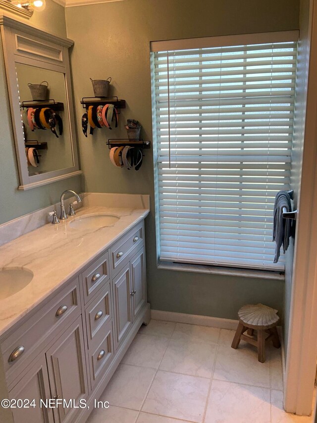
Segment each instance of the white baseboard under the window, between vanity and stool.
[{"label": "white baseboard under the window, between vanity and stool", "polygon": [[198,314],[174,313],[173,311],[152,310],[151,318],[170,322],[189,323],[192,325],[218,327],[236,330],[239,321],[220,317],[200,316]]}]

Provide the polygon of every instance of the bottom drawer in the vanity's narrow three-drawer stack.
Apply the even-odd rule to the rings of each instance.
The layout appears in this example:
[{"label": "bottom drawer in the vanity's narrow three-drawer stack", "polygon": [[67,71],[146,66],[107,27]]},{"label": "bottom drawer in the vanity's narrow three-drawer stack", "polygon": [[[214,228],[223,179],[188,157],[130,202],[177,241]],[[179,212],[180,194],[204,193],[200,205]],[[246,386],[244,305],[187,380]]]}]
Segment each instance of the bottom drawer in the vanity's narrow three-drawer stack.
[{"label": "bottom drawer in the vanity's narrow three-drawer stack", "polygon": [[113,331],[112,321],[105,325],[103,329],[102,341],[96,348],[89,352],[90,380],[91,388],[105,374],[113,358]]}]

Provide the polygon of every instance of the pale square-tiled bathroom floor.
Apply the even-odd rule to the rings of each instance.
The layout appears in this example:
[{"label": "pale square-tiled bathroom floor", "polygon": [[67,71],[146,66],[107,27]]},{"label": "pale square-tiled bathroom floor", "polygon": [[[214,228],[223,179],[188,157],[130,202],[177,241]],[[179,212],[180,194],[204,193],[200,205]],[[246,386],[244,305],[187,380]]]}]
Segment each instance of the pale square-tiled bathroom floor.
[{"label": "pale square-tiled bathroom floor", "polygon": [[142,326],[87,423],[309,423],[283,411],[280,349],[259,363],[234,331],[151,320]]}]

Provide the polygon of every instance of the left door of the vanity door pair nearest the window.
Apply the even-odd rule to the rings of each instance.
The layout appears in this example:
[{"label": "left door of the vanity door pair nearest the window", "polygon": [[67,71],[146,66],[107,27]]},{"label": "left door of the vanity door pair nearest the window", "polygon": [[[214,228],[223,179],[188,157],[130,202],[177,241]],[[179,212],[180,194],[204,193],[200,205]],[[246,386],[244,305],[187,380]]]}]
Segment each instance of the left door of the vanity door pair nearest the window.
[{"label": "left door of the vanity door pair nearest the window", "polygon": [[113,279],[115,344],[120,344],[132,325],[130,263]]}]

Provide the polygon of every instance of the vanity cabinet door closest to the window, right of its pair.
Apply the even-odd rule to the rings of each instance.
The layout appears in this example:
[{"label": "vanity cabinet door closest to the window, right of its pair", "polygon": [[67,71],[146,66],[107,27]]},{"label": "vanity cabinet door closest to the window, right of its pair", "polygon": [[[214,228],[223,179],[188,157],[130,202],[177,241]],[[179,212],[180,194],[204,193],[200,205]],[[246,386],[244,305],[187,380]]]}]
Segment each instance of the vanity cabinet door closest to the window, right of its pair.
[{"label": "vanity cabinet door closest to the window, right of its pair", "polygon": [[146,298],[146,273],[145,273],[145,252],[144,247],[131,260],[132,279],[132,321],[142,306],[147,301]]}]

